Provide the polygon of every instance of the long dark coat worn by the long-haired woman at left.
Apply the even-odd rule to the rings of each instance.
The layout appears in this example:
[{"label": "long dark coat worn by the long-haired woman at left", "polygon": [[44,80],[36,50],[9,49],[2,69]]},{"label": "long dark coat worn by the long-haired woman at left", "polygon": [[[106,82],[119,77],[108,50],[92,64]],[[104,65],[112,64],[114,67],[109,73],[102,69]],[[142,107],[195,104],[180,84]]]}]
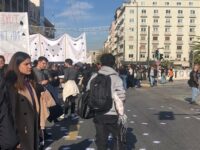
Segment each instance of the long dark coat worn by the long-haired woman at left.
[{"label": "long dark coat worn by the long-haired woman at left", "polygon": [[[21,92],[14,88],[12,82],[11,86],[7,89],[8,97],[5,101],[11,102],[11,110],[9,115],[13,116],[13,126],[16,130],[19,143],[23,150],[37,150],[38,149],[38,103],[33,105],[30,101],[30,95],[28,92]],[[34,93],[34,97],[36,94]],[[36,99],[37,100],[37,99]],[[35,101],[36,101],[35,100]],[[5,135],[3,135],[5,136]]]}]

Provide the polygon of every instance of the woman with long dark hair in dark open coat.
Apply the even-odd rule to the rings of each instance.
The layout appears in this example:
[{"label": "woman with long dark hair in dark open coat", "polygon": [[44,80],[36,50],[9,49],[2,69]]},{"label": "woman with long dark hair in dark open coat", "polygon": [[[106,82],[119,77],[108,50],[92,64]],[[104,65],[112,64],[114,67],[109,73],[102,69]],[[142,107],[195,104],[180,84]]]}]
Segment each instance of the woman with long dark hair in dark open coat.
[{"label": "woman with long dark hair in dark open coat", "polygon": [[11,84],[8,92],[12,103],[14,127],[19,138],[17,147],[24,150],[37,150],[39,104],[31,82],[30,56],[24,52],[16,52],[8,65],[7,78],[11,72],[16,75],[16,81]]}]

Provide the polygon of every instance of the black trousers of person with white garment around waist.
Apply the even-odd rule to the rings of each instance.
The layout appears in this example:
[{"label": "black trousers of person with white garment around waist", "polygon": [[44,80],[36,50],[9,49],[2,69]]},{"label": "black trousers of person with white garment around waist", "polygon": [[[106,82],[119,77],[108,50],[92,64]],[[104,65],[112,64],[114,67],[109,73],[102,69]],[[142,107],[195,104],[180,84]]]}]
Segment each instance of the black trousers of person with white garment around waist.
[{"label": "black trousers of person with white garment around waist", "polygon": [[71,108],[71,114],[75,113],[75,108],[76,108],[76,96],[69,96],[65,100],[65,114],[68,114],[69,108]]}]

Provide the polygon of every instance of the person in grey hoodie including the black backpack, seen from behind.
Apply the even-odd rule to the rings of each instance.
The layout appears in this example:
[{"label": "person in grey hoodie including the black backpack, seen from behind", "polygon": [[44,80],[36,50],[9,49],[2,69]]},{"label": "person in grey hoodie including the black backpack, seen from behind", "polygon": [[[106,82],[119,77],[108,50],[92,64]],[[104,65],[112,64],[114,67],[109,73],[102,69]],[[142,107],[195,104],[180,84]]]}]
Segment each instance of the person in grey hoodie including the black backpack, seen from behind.
[{"label": "person in grey hoodie including the black backpack, seen from behind", "polygon": [[113,149],[124,150],[125,140],[122,138],[122,126],[119,120],[126,118],[124,114],[125,89],[122,79],[113,69],[115,57],[112,54],[101,56],[101,69],[90,78],[89,106],[95,112],[93,122],[96,128],[96,145],[98,150],[108,148],[108,136],[112,134]]}]

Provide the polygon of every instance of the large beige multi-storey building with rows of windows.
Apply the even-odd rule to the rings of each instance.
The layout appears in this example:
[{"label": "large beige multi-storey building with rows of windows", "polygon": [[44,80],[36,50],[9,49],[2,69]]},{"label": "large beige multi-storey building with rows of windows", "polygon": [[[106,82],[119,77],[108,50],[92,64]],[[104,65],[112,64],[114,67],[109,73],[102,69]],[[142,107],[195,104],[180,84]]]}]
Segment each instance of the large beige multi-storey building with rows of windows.
[{"label": "large beige multi-storey building with rows of windows", "polygon": [[109,41],[116,41],[112,52],[121,61],[146,62],[148,56],[150,61],[156,60],[154,53],[159,49],[165,60],[189,66],[192,41],[200,35],[200,1],[123,3],[115,12],[114,34]]}]

